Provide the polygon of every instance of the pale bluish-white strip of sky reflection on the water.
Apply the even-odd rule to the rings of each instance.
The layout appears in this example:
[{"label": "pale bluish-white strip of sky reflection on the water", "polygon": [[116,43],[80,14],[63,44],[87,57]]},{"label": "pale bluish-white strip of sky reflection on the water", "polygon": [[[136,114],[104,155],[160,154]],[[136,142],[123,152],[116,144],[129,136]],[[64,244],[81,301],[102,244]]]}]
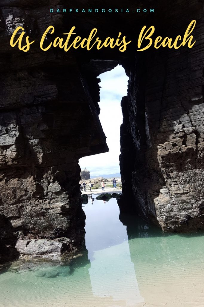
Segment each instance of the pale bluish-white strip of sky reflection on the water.
[{"label": "pale bluish-white strip of sky reflection on the water", "polygon": [[131,261],[126,227],[118,219],[116,200],[96,200],[94,207],[87,205],[84,211],[93,294],[99,297],[109,295],[124,301],[124,306],[144,302]]}]

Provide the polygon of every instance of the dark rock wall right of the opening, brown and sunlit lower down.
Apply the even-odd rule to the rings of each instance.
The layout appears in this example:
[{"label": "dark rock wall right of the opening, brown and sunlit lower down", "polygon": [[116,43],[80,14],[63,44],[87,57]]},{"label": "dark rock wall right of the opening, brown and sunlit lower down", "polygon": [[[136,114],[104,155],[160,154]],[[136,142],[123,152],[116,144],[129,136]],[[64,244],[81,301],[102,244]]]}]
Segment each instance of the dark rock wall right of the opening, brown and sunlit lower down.
[{"label": "dark rock wall right of the opening, brown and sunlit lower down", "polygon": [[[196,2],[197,3],[197,2]],[[166,231],[204,228],[202,4],[169,9],[165,35],[196,19],[192,49],[166,49],[127,67],[129,95],[122,100],[121,173],[125,198]],[[183,18],[186,18],[184,22]],[[167,22],[169,20],[167,19]],[[175,27],[175,28],[174,28]],[[180,27],[180,28],[179,28]],[[175,34],[174,34],[175,35]]]}]

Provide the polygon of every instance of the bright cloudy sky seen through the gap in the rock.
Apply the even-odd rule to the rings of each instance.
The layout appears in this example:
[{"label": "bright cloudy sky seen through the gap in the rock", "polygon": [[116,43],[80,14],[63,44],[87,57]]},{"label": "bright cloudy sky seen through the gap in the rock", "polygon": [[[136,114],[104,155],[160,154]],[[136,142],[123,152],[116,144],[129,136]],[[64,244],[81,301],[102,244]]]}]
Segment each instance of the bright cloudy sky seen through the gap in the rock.
[{"label": "bright cloudy sky seen through the gap in the rock", "polygon": [[99,119],[106,135],[109,152],[79,160],[81,169],[89,170],[91,176],[120,172],[120,126],[123,121],[121,99],[127,95],[128,88],[128,77],[120,65],[99,75],[99,78],[101,79]]}]

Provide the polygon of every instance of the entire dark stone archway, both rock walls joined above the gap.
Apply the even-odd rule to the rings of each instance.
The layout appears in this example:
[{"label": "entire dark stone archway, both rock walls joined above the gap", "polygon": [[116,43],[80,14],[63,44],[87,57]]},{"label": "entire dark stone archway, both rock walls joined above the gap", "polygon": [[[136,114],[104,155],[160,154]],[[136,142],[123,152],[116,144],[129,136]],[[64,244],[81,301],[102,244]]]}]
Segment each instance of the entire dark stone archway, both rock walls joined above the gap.
[{"label": "entire dark stone archway, both rock walls joined above the gap", "polygon": [[[203,228],[202,3],[158,1],[158,13],[148,18],[109,15],[106,22],[96,14],[50,15],[50,7],[64,4],[0,3],[0,214],[9,224],[8,235],[4,229],[0,238],[5,244],[9,239],[10,248],[13,238],[14,249],[17,239],[60,239],[68,250],[82,244],[85,215],[78,160],[108,150],[98,119],[97,76],[118,63],[129,77],[128,96],[122,100],[121,211],[136,209],[164,230]],[[133,6],[129,1],[126,5]],[[158,35],[175,37],[192,19],[197,20],[192,49],[135,51],[144,24],[154,24]],[[97,27],[100,37],[117,37],[122,31],[133,42],[125,52],[43,52],[38,39],[51,24],[56,35],[75,25],[82,37]],[[36,39],[26,54],[9,45],[17,25]],[[22,242],[22,254],[29,242]]]}]

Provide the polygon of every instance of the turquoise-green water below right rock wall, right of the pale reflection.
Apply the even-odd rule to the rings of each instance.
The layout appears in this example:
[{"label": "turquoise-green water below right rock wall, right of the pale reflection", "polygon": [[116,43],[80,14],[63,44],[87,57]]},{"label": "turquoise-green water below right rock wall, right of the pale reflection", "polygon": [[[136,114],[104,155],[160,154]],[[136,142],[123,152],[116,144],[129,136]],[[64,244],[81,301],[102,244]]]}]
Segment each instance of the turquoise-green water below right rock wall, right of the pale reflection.
[{"label": "turquoise-green water below right rock wall, right of the pale reflection", "polygon": [[203,233],[166,233],[154,224],[125,214],[120,214],[120,220],[127,225],[131,261],[144,301],[150,306],[165,302],[171,307],[192,307],[196,306],[193,299],[203,300]]}]

